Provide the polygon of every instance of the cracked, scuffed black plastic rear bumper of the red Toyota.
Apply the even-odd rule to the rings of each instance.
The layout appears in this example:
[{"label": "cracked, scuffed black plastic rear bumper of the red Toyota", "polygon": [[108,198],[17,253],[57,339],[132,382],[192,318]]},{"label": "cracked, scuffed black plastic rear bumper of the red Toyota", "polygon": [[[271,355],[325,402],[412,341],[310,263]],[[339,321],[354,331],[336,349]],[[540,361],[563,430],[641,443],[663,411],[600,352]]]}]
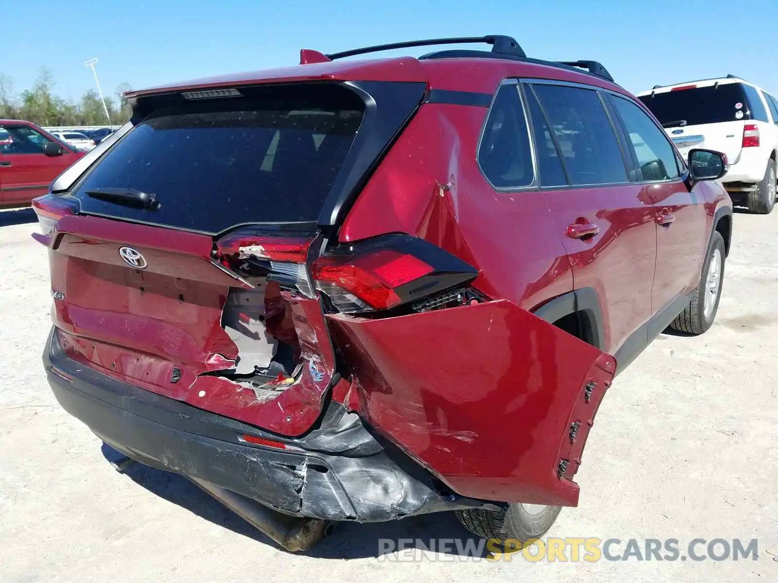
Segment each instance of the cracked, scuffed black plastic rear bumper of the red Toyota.
[{"label": "cracked, scuffed black plastic rear bumper of the red Toyota", "polygon": [[[440,494],[426,470],[380,442],[356,414],[338,403],[331,403],[317,430],[299,439],[279,439],[84,367],[63,353],[54,329],[43,359],[61,406],[114,449],[289,515],[381,522],[502,506]],[[303,451],[247,445],[239,435],[286,442]]]}]

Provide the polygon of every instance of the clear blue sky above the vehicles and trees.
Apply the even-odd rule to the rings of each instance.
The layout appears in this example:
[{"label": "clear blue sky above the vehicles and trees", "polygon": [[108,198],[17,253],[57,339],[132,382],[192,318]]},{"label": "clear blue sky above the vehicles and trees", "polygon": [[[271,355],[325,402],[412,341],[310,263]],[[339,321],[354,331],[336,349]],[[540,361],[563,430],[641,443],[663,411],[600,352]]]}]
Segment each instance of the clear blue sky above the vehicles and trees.
[{"label": "clear blue sky above the vehicles and trees", "polygon": [[68,100],[93,89],[83,65],[93,57],[112,95],[124,81],[141,89],[293,65],[300,48],[484,34],[513,36],[532,57],[601,61],[633,93],[733,73],[778,95],[776,0],[0,0],[0,15],[0,73],[21,93],[46,66]]}]

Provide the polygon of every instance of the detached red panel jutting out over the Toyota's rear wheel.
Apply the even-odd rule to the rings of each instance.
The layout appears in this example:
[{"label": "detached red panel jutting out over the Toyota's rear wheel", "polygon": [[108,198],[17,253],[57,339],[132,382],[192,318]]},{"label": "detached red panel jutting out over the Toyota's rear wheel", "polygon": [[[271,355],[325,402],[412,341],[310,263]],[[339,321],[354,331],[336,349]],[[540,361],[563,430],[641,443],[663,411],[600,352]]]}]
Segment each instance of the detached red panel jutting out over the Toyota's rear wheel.
[{"label": "detached red panel jutting out over the Toyota's rear wheel", "polygon": [[572,477],[613,377],[611,356],[506,300],[329,317],[361,386],[360,414],[454,491],[577,504]]}]

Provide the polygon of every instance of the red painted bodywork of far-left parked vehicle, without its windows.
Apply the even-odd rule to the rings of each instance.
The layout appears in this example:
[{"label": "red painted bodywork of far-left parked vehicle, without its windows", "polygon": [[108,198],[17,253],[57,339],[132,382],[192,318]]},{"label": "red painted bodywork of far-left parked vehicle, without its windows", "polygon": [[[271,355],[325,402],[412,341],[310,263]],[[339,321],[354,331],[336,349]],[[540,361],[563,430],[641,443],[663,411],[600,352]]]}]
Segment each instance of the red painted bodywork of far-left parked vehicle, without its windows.
[{"label": "red painted bodywork of far-left parked vehicle, without its windows", "polygon": [[30,204],[33,198],[46,194],[52,180],[86,153],[76,151],[29,121],[0,120],[0,127],[29,128],[61,145],[63,151],[58,156],[47,156],[43,151],[30,154],[0,151],[0,208]]}]

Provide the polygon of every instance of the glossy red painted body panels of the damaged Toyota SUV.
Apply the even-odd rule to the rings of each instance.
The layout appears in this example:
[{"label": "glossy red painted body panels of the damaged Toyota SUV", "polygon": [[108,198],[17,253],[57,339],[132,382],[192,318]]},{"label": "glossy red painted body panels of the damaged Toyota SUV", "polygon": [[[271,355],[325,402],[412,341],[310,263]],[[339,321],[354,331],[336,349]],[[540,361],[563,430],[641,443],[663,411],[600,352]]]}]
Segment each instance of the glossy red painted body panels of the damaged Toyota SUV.
[{"label": "glossy red painted body panels of the damaged Toyota SUV", "polygon": [[[493,93],[503,79],[524,77],[626,94],[591,75],[520,61],[328,61],[302,51],[301,62],[307,64],[128,96],[317,80],[424,82],[430,89]],[[204,374],[238,358],[221,314],[230,288],[250,287],[219,266],[234,264],[246,246],[300,264],[309,239],[242,229],[214,242],[173,229],[64,216],[50,258],[52,288],[65,294],[52,310],[65,351],[112,378],[279,435],[309,431],[331,398],[459,494],[576,504],[573,476],[615,371],[608,354],[696,285],[714,212],[727,195],[715,183],[690,192],[680,180],[496,191],[475,159],[486,114],[478,106],[420,106],[370,175],[337,239],[352,243],[396,232],[426,239],[478,269],[472,285],[494,301],[386,318],[325,317],[317,299],[270,284],[266,329],[293,346],[303,366],[300,378],[276,395],[256,395]],[[145,270],[124,264],[118,250],[125,245],[146,257]],[[337,259],[310,267],[321,280],[383,308],[393,305],[393,288],[429,273],[415,257],[390,256],[366,261],[333,253],[328,257]],[[226,263],[215,265],[215,257]],[[603,351],[530,313],[576,288],[594,288],[600,299]],[[328,394],[333,342],[343,378]],[[173,368],[180,368],[177,382],[170,382]],[[279,375],[276,386],[284,379]],[[573,422],[579,425],[571,439]],[[559,472],[562,460],[569,464]]]}]

